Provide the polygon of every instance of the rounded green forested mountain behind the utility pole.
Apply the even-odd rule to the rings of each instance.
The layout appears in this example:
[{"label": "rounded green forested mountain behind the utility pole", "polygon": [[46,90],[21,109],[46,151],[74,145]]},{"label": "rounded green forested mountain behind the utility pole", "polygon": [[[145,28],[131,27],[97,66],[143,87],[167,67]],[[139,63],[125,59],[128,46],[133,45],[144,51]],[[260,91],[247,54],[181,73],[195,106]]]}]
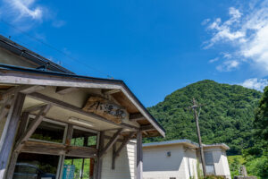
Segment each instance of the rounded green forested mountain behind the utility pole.
[{"label": "rounded green forested mountain behind the utility pole", "polygon": [[197,141],[196,124],[192,111],[192,98],[203,104],[199,125],[202,141],[226,143],[229,154],[240,154],[254,143],[255,108],[262,93],[239,85],[220,84],[215,81],[198,81],[174,91],[149,112],[166,130],[166,138],[148,141],[188,139]]}]

